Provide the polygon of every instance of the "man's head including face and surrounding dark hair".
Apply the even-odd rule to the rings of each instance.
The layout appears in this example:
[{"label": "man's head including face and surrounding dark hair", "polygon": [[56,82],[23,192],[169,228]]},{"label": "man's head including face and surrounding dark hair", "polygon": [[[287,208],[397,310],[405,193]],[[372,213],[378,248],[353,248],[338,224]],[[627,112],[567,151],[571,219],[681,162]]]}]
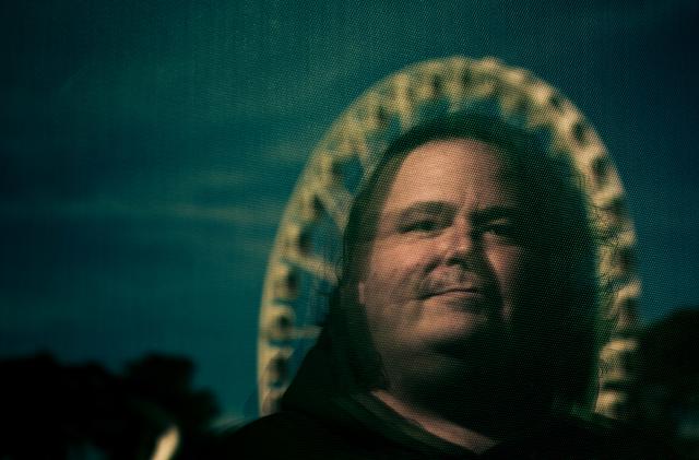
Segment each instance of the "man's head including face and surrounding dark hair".
[{"label": "man's head including face and surrounding dark hair", "polygon": [[336,306],[369,387],[514,379],[520,399],[584,400],[599,285],[574,177],[484,117],[437,120],[387,150],[350,215]]}]

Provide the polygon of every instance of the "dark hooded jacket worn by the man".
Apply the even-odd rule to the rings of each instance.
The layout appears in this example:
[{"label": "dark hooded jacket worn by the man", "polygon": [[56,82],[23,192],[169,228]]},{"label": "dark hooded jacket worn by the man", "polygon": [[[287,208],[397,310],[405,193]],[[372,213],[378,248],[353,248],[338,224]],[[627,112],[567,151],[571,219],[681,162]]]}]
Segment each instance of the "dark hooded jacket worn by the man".
[{"label": "dark hooded jacket worn by the man", "polygon": [[[282,400],[282,410],[224,439],[213,458],[242,459],[666,459],[640,432],[606,418],[557,416],[476,455],[358,390],[325,328]],[[346,357],[346,355],[345,355]],[[346,363],[346,362],[345,362]]]}]

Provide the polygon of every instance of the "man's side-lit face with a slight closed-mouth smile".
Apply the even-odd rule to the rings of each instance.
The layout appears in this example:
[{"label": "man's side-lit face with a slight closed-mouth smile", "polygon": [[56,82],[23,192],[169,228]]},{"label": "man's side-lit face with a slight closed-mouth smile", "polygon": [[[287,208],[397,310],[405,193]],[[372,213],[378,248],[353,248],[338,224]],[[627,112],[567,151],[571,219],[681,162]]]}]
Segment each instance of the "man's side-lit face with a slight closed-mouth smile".
[{"label": "man's side-lit face with a slight closed-mouth smile", "polygon": [[400,166],[357,284],[389,373],[509,337],[529,258],[514,184],[475,140],[428,142]]}]

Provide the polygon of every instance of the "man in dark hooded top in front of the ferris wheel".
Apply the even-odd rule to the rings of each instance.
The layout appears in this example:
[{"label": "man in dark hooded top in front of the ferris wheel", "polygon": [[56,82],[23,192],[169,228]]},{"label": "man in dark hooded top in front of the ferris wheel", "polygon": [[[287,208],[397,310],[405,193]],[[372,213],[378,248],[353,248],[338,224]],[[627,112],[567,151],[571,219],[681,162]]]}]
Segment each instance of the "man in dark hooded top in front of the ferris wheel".
[{"label": "man in dark hooded top in front of the ferris wheel", "polygon": [[[337,288],[250,458],[643,458],[590,420],[594,235],[564,158],[486,116],[393,142],[355,199]],[[651,457],[652,453],[651,453]]]}]

